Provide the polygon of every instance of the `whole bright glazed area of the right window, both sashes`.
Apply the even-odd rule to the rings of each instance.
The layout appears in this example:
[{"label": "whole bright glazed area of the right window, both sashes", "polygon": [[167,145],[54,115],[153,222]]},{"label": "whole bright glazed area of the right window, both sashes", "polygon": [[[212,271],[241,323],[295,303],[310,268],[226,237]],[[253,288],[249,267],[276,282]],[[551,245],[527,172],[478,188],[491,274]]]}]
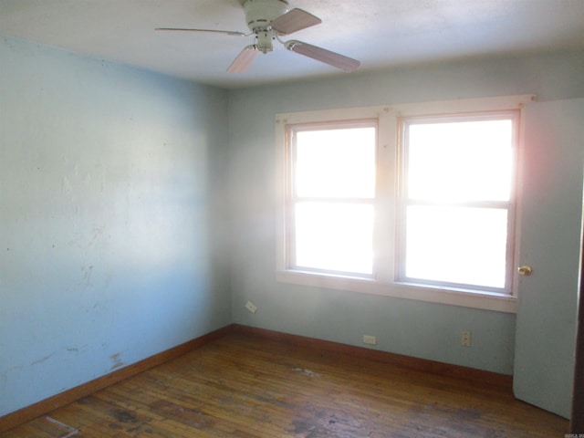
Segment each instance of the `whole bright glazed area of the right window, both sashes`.
[{"label": "whole bright glazed area of the right window, both sashes", "polygon": [[403,276],[505,289],[514,119],[404,124]]}]

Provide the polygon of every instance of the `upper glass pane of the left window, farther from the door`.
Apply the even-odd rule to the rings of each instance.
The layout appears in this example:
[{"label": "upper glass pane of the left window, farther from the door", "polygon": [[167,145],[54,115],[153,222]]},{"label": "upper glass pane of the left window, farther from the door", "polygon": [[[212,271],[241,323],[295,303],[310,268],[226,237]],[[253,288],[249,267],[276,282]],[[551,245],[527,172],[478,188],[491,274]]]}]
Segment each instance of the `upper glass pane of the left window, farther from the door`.
[{"label": "upper glass pane of the left window, farther from the door", "polygon": [[374,127],[297,132],[295,183],[301,197],[373,197]]}]

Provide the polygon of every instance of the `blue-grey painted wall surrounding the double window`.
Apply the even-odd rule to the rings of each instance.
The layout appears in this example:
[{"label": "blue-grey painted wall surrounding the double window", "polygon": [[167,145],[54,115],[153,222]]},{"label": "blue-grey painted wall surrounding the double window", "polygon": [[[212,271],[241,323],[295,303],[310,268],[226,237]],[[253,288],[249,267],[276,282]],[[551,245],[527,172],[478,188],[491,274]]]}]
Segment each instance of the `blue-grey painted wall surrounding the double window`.
[{"label": "blue-grey painted wall surrounding the double window", "polygon": [[[373,334],[382,350],[512,374],[516,332],[512,314],[276,283],[275,115],[516,94],[570,99],[584,96],[583,77],[584,54],[571,53],[428,65],[233,91],[229,173],[235,322],[352,345],[362,345],[362,335]],[[254,315],[245,310],[248,299],[258,307]],[[460,346],[463,329],[473,333],[470,349]]]}]

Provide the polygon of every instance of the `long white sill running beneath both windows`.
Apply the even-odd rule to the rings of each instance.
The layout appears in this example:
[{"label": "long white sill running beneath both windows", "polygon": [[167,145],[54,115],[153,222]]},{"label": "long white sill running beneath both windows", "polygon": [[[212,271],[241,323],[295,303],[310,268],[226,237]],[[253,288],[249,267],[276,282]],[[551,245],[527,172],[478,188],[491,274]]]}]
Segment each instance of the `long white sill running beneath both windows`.
[{"label": "long white sill running beneath both windows", "polygon": [[516,313],[517,299],[506,294],[427,287],[409,283],[382,283],[352,276],[330,276],[304,271],[277,271],[276,281],[306,287],[348,290],[383,297],[398,297],[432,303]]}]

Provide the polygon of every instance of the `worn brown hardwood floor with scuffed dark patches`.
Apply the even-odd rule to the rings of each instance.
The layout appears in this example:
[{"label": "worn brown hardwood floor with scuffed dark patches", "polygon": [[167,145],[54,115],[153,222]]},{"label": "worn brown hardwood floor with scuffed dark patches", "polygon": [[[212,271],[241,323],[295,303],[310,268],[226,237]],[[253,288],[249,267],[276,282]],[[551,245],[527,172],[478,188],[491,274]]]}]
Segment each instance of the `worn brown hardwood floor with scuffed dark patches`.
[{"label": "worn brown hardwood floor with scuffed dark patches", "polygon": [[233,333],[5,438],[563,438],[509,389]]}]

